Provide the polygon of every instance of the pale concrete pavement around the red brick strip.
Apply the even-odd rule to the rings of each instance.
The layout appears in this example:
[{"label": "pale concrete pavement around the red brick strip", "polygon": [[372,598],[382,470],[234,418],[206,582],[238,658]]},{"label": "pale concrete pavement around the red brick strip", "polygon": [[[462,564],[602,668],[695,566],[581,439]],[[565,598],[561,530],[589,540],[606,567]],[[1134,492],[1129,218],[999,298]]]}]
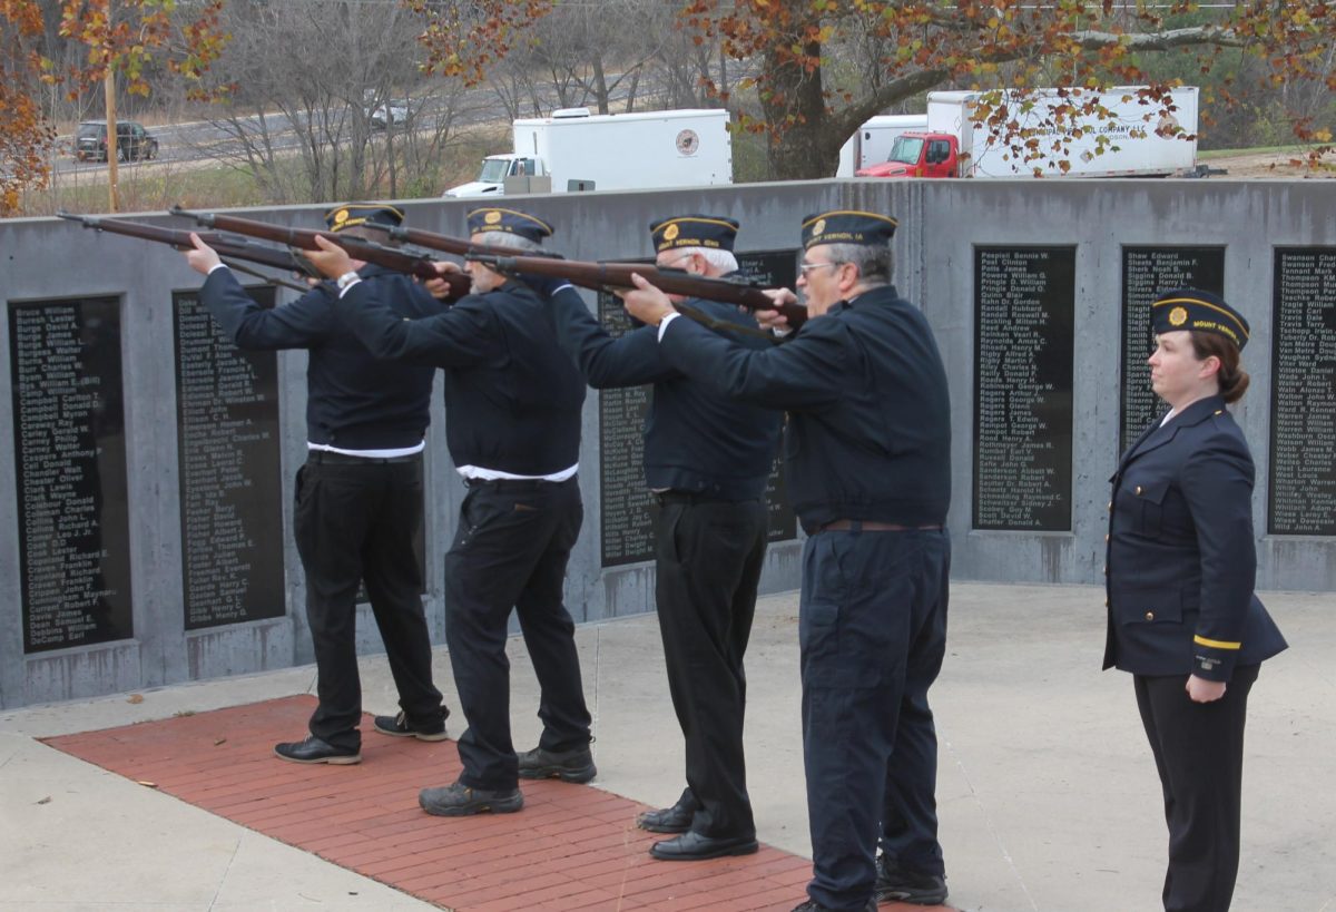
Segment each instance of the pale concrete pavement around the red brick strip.
[{"label": "pale concrete pavement around the red brick strip", "polygon": [[[1233,908],[1336,909],[1336,686],[1323,665],[1336,654],[1336,604],[1329,594],[1263,599],[1291,650],[1263,667],[1252,693]],[[1098,670],[1102,603],[1093,587],[953,587],[933,698],[942,842],[961,909],[1158,908],[1160,786],[1130,678]],[[796,615],[795,592],[758,606],[748,781],[759,837],[810,856]],[[656,619],[588,624],[577,641],[597,735],[593,785],[671,802],[681,737]],[[516,745],[525,748],[538,733],[537,686],[522,641],[510,650]],[[436,671],[454,707],[444,649]],[[362,682],[366,710],[395,710],[383,657],[362,661]],[[433,908],[37,741],[313,690],[314,669],[303,667],[0,714],[0,912]],[[452,735],[462,725],[452,717]],[[422,785],[441,784],[424,769]]]}]

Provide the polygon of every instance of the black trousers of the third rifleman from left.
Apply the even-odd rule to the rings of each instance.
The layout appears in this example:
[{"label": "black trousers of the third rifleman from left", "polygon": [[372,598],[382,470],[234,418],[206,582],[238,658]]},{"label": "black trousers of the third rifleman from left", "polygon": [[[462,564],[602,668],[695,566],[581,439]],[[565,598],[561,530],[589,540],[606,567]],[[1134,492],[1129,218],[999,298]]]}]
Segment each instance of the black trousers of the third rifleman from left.
[{"label": "black trousers of the third rifleman from left", "polygon": [[756,834],[747,794],[743,655],[766,559],[764,500],[731,503],[667,493],[655,514],[655,598],[668,693],[687,741],[692,829]]}]

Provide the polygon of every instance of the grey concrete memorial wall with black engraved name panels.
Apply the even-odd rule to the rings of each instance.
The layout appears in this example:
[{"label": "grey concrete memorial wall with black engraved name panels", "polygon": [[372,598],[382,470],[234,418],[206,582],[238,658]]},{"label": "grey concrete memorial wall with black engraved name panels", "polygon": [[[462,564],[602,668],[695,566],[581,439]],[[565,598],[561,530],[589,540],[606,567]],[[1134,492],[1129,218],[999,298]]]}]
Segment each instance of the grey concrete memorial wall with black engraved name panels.
[{"label": "grey concrete memorial wall with black engraved name panels", "polygon": [[[1328,182],[824,181],[516,202],[580,259],[648,259],[651,221],[727,213],[743,271],[780,285],[807,214],[895,214],[896,285],[923,306],[951,382],[957,579],[1102,579],[1108,479],[1161,413],[1149,305],[1182,285],[1220,293],[1252,324],[1234,413],[1257,467],[1259,586],[1336,591]],[[414,226],[448,234],[468,207],[406,203]],[[307,226],[321,209],[250,214]],[[310,662],[291,543],[305,353],[236,352],[166,247],[17,219],[0,222],[0,707]],[[262,306],[293,297],[248,292]],[[631,329],[615,297],[587,302],[613,334]],[[648,407],[645,388],[587,400],[585,526],[566,580],[577,620],[653,610]],[[438,390],[426,491],[424,600],[440,643],[462,485]],[[803,536],[782,464],[770,538],[763,591],[795,588]],[[358,627],[359,649],[379,651],[366,606]]]}]

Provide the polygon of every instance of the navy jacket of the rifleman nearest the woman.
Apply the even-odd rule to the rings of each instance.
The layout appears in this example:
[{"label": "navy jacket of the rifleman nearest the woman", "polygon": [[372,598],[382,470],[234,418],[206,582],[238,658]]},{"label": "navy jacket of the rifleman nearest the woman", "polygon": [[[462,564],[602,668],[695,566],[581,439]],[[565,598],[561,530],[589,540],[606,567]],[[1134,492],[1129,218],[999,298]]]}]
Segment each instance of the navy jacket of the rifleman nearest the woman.
[{"label": "navy jacket of the rifleman nearest the woman", "polygon": [[660,349],[728,396],[788,411],[788,492],[808,532],[836,519],[946,522],[946,370],[927,320],[894,286],[842,301],[766,350],[684,317],[664,330]]}]

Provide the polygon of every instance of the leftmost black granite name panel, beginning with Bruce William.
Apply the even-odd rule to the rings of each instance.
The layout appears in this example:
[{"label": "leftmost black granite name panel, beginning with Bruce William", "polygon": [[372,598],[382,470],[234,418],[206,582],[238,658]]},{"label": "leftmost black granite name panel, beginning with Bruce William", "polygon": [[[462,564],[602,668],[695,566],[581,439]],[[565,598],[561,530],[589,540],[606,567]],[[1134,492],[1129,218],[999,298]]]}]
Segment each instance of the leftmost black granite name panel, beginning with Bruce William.
[{"label": "leftmost black granite name panel, beginning with Bruce William", "polygon": [[134,637],[115,297],[9,304],[23,650]]}]

